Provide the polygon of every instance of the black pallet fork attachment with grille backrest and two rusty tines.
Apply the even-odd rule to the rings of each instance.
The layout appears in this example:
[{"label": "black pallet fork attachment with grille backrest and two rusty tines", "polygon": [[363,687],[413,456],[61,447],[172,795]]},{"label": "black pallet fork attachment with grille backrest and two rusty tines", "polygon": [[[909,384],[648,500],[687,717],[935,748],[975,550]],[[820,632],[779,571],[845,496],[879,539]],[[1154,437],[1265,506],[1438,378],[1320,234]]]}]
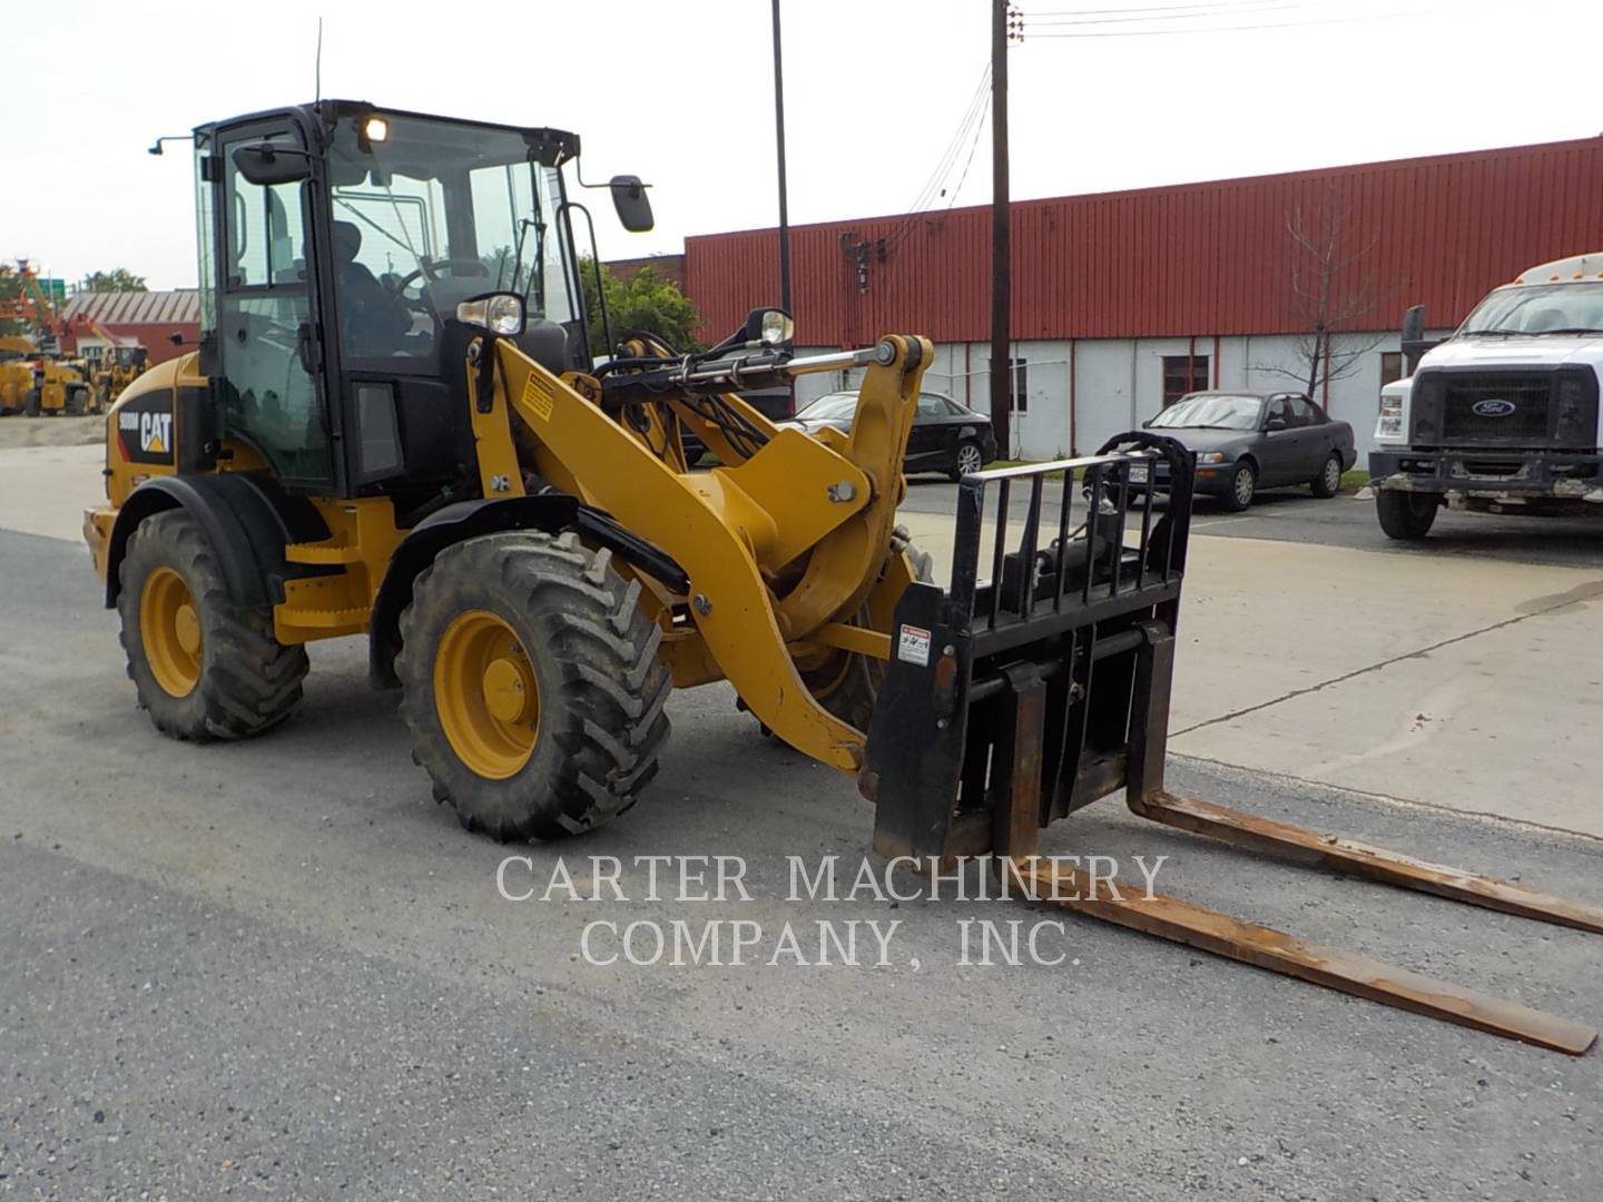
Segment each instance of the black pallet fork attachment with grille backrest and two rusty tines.
[{"label": "black pallet fork attachment with grille backrest and two rusty tines", "polygon": [[[1061,473],[1042,545],[1045,481]],[[1156,516],[1154,484],[1169,502]],[[1011,490],[1029,489],[1010,545]],[[978,580],[987,486],[991,579]],[[1603,907],[1183,798],[1164,787],[1193,458],[1149,433],[1096,455],[965,476],[952,587],[911,585],[859,789],[874,848],[946,869],[994,856],[1026,896],[1270,971],[1537,1047],[1584,1055],[1593,1027],[1306,942],[1039,854],[1039,833],[1120,789],[1138,817],[1298,864],[1603,933]],[[1076,503],[1079,498],[1079,505]],[[1076,514],[1079,524],[1076,524]]]}]

